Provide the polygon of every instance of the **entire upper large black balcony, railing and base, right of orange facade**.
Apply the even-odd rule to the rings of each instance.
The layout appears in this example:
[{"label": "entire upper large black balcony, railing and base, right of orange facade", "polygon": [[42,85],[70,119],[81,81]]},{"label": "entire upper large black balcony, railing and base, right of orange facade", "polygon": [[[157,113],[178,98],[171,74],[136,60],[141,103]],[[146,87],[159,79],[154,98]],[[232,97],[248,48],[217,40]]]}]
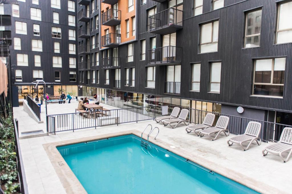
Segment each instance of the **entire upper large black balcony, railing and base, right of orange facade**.
[{"label": "entire upper large black balcony, railing and base, right of orange facade", "polygon": [[169,8],[148,18],[148,31],[155,34],[173,33],[183,28],[183,11]]}]

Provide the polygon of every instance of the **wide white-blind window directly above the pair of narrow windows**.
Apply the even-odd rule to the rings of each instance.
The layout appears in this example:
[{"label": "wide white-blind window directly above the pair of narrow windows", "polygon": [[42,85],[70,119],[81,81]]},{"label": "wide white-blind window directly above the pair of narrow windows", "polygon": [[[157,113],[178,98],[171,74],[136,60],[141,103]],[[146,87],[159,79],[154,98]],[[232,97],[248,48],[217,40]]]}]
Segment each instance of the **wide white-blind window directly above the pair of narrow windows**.
[{"label": "wide white-blind window directly above the pair of narrow windows", "polygon": [[218,51],[218,29],[219,21],[201,26],[201,53]]}]

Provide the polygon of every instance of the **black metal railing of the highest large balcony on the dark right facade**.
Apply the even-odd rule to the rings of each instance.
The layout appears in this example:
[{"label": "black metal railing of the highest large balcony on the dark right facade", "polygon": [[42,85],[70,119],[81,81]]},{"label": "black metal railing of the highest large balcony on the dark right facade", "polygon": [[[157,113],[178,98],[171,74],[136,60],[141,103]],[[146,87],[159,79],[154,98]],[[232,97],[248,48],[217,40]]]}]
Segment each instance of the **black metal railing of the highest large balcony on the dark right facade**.
[{"label": "black metal railing of the highest large balcony on the dark right facade", "polygon": [[183,27],[183,11],[168,8],[148,17],[148,31],[154,31],[167,26]]}]

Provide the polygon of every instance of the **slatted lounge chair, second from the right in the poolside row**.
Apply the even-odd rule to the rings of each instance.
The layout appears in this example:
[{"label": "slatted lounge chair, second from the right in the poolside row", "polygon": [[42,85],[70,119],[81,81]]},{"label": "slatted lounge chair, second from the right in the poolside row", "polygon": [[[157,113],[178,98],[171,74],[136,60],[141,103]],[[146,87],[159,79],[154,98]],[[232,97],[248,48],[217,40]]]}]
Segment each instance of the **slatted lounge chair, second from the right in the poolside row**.
[{"label": "slatted lounge chair, second from the right in the poolside row", "polygon": [[[230,138],[227,141],[228,145],[232,146],[233,143],[239,144],[244,151],[248,150],[249,146],[254,140],[256,141],[256,143],[258,143],[258,145],[260,145],[262,143],[262,140],[259,137],[261,127],[262,124],[260,124],[259,122],[248,122],[244,134]],[[257,139],[259,139],[259,141]],[[242,144],[248,141],[250,141],[250,143],[246,147],[244,147]]]}]

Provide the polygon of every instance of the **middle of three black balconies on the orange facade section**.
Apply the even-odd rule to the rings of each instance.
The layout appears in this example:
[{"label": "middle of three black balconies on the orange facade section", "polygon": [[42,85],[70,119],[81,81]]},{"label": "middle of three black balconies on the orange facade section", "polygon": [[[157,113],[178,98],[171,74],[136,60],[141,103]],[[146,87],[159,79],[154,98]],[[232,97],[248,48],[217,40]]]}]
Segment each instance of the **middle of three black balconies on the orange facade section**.
[{"label": "middle of three black balconies on the orange facade section", "polygon": [[121,24],[121,10],[109,9],[101,15],[102,25],[117,26]]}]

